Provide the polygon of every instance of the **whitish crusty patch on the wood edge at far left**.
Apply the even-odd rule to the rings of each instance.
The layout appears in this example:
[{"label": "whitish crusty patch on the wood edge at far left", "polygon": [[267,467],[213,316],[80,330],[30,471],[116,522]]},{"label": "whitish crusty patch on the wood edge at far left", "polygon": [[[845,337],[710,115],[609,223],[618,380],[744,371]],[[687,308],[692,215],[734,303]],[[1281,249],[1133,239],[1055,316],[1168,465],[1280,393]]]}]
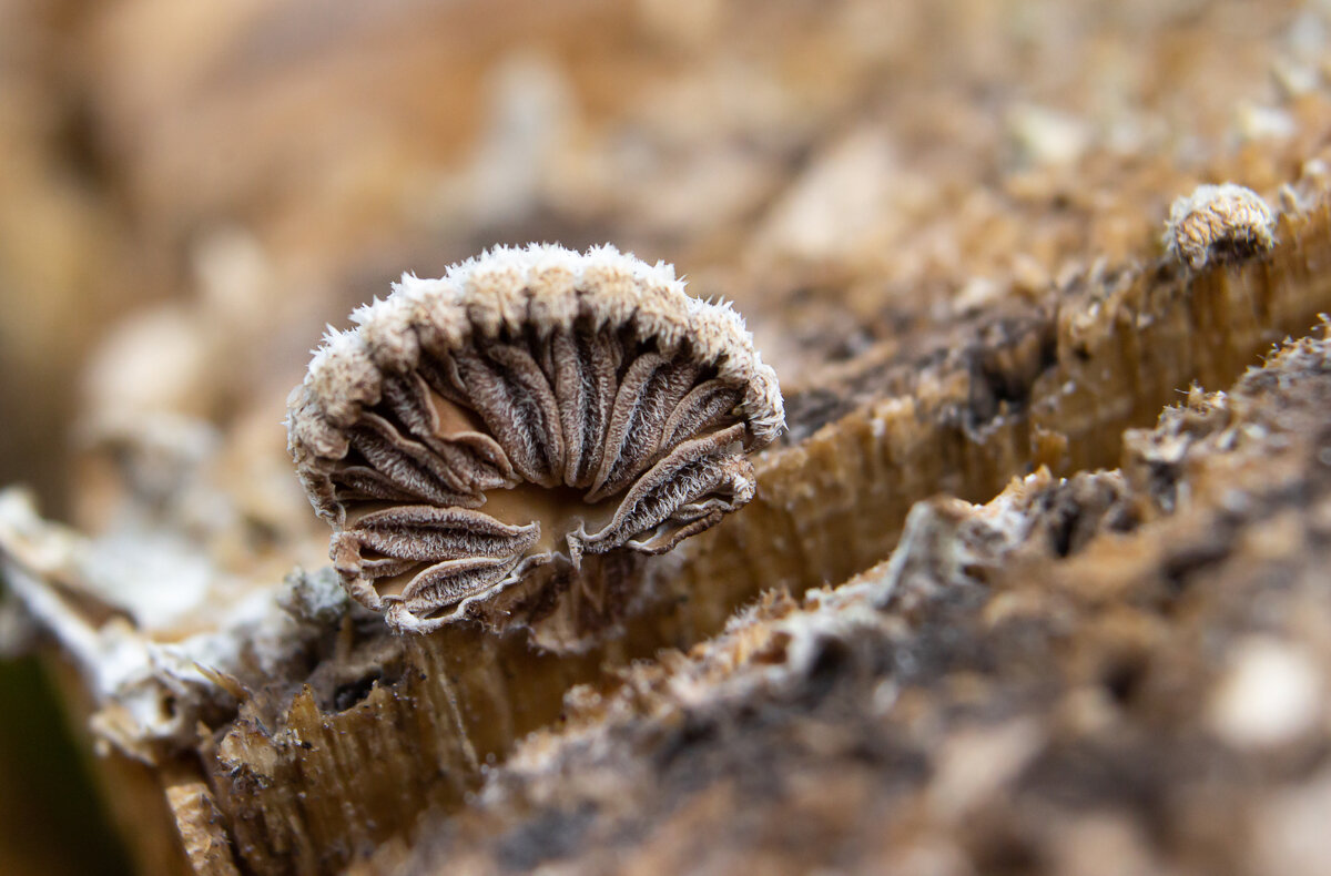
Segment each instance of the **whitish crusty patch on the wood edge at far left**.
[{"label": "whitish crusty patch on the wood edge at far left", "polygon": [[[165,539],[89,539],[0,491],[9,604],[79,670],[98,742],[145,763],[196,742],[208,710],[234,707],[240,678],[280,676],[347,607],[329,570],[244,586]],[[184,622],[205,608],[209,623]]]}]

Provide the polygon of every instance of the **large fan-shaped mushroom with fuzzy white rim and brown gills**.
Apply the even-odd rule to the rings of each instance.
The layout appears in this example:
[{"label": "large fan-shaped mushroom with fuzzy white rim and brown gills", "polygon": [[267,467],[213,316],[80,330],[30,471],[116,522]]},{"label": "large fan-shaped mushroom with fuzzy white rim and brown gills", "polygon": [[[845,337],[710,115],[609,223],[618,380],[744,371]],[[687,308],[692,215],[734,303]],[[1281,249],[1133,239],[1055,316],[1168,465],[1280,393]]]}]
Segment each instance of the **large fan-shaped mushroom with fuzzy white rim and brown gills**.
[{"label": "large fan-shaped mushroom with fuzzy white rim and brown gills", "polygon": [[330,331],[289,445],[347,592],[398,630],[539,567],[669,550],[753,497],[784,423],[739,314],[611,246],[405,276]]}]

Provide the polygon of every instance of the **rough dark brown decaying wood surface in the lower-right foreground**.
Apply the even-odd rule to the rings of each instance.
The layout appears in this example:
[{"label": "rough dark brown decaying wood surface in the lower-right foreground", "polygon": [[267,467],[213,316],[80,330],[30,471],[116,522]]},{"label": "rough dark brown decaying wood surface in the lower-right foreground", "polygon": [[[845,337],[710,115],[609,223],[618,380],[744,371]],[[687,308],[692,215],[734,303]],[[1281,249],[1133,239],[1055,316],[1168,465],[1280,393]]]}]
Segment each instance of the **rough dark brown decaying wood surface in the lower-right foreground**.
[{"label": "rough dark brown decaying wood surface in the lower-right foreground", "polygon": [[353,872],[1322,872],[1328,405],[1304,339],[1122,470],[920,505],[889,562],[579,688]]}]

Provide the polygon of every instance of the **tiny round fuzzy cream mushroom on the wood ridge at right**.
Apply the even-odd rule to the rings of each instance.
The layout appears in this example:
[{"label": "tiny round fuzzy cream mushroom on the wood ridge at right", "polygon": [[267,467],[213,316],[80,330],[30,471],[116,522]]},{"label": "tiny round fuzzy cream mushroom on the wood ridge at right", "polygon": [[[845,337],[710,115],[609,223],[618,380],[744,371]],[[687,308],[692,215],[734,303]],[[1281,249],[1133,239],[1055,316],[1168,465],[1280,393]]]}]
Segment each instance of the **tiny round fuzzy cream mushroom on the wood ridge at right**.
[{"label": "tiny round fuzzy cream mushroom on the wood ridge at right", "polygon": [[1165,222],[1165,248],[1191,270],[1271,252],[1275,220],[1256,192],[1242,185],[1201,185],[1179,197]]}]

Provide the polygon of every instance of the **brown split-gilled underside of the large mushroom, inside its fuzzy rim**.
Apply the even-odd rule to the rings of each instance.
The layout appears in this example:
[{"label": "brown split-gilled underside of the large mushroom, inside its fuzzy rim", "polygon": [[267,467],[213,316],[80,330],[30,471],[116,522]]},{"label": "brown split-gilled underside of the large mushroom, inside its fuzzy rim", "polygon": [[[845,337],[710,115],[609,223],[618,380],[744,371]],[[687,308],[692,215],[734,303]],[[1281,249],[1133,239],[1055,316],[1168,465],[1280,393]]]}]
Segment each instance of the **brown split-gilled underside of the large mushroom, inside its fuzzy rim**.
[{"label": "brown split-gilled underside of the large mushroom, inside its fuzzy rim", "polygon": [[748,502],[743,389],[687,349],[624,346],[579,329],[385,375],[327,473],[353,595],[442,622],[536,567],[659,554]]}]

